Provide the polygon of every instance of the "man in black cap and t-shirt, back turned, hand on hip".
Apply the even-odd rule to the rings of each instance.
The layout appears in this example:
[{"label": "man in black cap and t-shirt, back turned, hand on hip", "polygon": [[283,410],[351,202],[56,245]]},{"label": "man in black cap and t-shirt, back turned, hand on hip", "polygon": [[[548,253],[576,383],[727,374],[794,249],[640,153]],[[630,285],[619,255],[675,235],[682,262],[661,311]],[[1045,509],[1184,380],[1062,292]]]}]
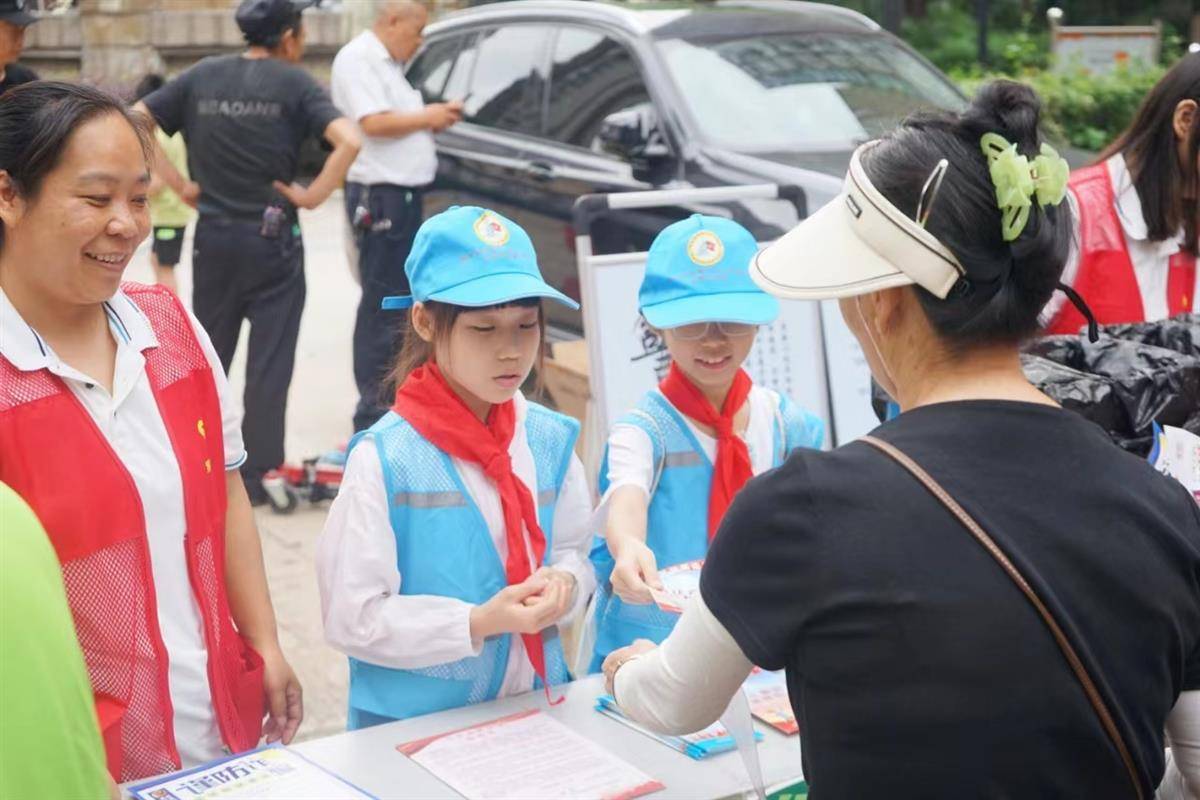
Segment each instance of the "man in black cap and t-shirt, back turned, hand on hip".
[{"label": "man in black cap and t-shirt, back turned, hand on hip", "polygon": [[[283,461],[283,421],[305,301],[296,207],[320,205],[360,146],[353,122],[302,68],[301,12],[313,0],[244,0],[236,18],[250,48],[204,59],[140,107],[168,134],[182,131],[196,184],[166,162],[156,170],[199,209],[192,251],[192,306],[226,369],[241,323],[251,324],[246,363],[251,501],[266,501],[263,475]],[[324,137],[334,152],[307,187],[293,182],[300,146]]]}]

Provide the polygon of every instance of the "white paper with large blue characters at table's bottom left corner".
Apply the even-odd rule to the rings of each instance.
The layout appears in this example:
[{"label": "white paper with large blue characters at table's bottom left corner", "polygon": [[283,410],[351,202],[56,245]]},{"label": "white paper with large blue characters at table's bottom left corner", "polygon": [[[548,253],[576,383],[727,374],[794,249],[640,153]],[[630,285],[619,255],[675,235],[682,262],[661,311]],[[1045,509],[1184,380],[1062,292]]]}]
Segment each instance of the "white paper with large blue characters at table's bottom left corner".
[{"label": "white paper with large blue characters at table's bottom left corner", "polygon": [[374,800],[280,745],[154,778],[128,793],[134,800]]}]

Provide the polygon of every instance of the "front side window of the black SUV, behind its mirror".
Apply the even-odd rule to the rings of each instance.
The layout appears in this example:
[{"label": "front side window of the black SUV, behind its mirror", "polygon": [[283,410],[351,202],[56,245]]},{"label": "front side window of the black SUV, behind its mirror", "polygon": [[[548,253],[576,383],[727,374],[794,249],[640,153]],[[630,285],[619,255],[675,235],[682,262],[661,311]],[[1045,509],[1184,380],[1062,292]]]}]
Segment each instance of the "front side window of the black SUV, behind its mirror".
[{"label": "front side window of the black SUV, behind its mirror", "polygon": [[641,70],[617,40],[583,28],[562,28],[550,71],[546,136],[599,151],[605,118],[648,104]]}]

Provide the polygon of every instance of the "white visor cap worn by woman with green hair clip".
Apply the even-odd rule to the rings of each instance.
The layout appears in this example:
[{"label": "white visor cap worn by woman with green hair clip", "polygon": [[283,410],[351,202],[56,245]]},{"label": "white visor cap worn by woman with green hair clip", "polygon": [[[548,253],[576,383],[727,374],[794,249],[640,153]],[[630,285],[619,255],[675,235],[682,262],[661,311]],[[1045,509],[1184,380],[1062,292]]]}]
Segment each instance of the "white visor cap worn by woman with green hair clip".
[{"label": "white visor cap worn by woman with green hair clip", "polygon": [[871,185],[859,154],[875,144],[854,150],[841,194],[750,263],[763,290],[832,300],[916,283],[944,300],[966,275],[954,253]]}]

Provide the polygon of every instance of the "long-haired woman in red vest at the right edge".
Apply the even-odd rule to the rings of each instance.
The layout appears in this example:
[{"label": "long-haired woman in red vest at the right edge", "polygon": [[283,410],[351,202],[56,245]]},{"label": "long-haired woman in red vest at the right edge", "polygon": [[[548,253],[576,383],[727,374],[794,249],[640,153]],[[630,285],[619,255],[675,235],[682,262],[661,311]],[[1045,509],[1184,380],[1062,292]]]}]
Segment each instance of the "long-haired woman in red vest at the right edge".
[{"label": "long-haired woman in red vest at the right edge", "polygon": [[[1100,161],[1070,178],[1079,240],[1063,270],[1102,325],[1195,309],[1200,53],[1186,55],[1146,96]],[[1049,333],[1076,333],[1082,315],[1055,295]]]}]

